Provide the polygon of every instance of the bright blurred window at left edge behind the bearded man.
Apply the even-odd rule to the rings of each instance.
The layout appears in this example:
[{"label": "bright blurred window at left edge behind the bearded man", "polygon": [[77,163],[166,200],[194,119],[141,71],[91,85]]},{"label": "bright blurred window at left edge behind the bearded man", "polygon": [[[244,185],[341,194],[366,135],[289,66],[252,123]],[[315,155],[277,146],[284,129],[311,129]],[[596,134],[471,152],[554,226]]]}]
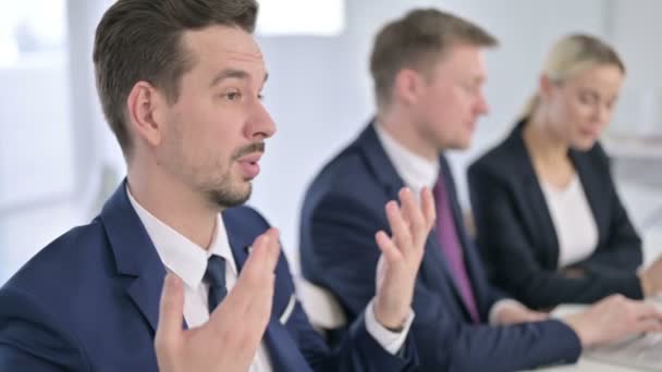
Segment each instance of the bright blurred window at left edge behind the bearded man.
[{"label": "bright blurred window at left edge behind the bearded man", "polygon": [[0,0],[0,284],[71,225],[65,0]]}]

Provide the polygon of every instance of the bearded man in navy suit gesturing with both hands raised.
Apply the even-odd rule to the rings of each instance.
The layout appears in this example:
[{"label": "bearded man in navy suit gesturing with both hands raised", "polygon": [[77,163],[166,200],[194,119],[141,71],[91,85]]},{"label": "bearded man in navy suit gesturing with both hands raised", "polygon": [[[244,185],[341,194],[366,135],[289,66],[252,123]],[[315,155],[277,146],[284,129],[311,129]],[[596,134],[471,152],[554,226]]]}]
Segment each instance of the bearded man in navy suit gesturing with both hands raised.
[{"label": "bearded man in navy suit gesturing with both hands raised", "polygon": [[421,208],[403,189],[400,207],[387,204],[393,234],[369,233],[383,252],[377,295],[334,350],[295,298],[278,232],[241,207],[275,132],[260,101],[256,14],[253,0],[119,0],[106,12],[95,71],[127,177],[91,223],[0,289],[0,370],[416,365],[408,328],[434,221],[429,190]]}]

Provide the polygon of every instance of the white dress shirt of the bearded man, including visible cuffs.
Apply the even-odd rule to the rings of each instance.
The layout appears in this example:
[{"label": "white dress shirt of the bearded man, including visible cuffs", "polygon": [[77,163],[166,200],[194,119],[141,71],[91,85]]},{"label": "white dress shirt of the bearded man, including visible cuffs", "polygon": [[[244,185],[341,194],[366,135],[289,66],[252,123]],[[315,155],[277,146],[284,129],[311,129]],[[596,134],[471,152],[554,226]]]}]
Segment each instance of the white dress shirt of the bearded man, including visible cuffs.
[{"label": "white dress shirt of the bearded man, including visible cuffs", "polygon": [[[205,249],[149,213],[134,199],[128,187],[126,193],[167,270],[180,276],[184,283],[184,319],[186,324],[189,327],[205,324],[209,320],[209,286],[203,282],[203,277],[207,270],[209,257],[217,255],[225,259],[225,286],[228,292],[234,287],[238,276],[223,219],[220,214],[217,216],[216,232],[211,244],[209,249]],[[394,355],[405,342],[414,320],[414,312],[409,312],[403,331],[397,333],[387,330],[377,322],[372,311],[372,301],[366,308],[365,320],[368,333],[385,350]],[[249,371],[270,372],[272,370],[269,350],[262,343],[253,359]]]}]

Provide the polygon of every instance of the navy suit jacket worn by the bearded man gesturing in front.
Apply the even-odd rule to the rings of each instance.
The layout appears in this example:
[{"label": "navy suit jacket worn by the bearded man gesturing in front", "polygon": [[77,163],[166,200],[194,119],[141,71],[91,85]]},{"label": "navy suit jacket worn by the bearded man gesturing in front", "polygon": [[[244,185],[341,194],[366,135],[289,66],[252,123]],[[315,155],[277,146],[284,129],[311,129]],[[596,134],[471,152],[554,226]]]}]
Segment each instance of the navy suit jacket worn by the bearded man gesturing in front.
[{"label": "navy suit jacket worn by the bearded man gesturing in front", "polygon": [[[241,270],[247,247],[269,225],[246,207],[222,216]],[[154,336],[164,276],[123,184],[98,218],[56,239],[0,289],[0,370],[157,371]],[[281,255],[263,338],[274,371],[403,371],[415,362],[413,342],[407,340],[402,358],[391,356],[363,319],[334,351],[298,302],[281,324],[293,295]]]}]

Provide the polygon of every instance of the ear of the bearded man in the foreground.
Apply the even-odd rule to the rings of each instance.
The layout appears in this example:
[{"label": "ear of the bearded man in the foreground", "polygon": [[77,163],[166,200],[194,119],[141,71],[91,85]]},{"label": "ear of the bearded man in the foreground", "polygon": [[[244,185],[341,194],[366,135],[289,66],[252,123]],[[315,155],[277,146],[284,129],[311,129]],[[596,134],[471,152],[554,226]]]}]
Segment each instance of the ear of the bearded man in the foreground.
[{"label": "ear of the bearded man in the foreground", "polygon": [[136,83],[126,98],[128,124],[136,140],[149,146],[161,142],[164,123],[160,110],[167,104],[166,98],[149,83]]}]

